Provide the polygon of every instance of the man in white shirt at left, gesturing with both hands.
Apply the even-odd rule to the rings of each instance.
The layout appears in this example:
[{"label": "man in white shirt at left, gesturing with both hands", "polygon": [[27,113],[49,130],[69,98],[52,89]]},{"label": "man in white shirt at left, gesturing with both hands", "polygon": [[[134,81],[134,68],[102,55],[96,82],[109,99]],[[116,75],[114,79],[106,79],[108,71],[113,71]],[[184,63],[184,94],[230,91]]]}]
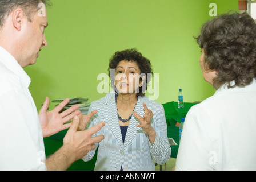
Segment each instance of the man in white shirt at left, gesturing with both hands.
[{"label": "man in white shirt at left, gesturing with both hands", "polygon": [[[39,3],[47,0],[0,0],[0,170],[65,170],[104,138],[91,137],[103,122],[85,130],[97,111],[82,117],[74,106],[59,114],[69,99],[47,112],[46,98],[37,113],[28,89],[30,78],[22,68],[35,64],[39,51],[47,46],[47,15],[46,10],[45,16],[38,14]],[[69,127],[63,146],[45,161],[43,137]]]}]

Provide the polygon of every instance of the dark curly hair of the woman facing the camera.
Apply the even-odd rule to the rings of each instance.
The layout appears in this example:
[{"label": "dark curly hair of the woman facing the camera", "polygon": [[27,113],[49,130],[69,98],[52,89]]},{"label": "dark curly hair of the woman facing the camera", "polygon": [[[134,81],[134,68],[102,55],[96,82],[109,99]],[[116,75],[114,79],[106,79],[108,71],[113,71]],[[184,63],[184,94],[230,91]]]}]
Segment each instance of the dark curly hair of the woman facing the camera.
[{"label": "dark curly hair of the woman facing the camera", "polygon": [[[109,61],[109,77],[110,77],[110,86],[115,89],[115,76],[111,75],[110,70],[117,68],[117,65],[120,61],[127,60],[127,61],[134,61],[139,69],[141,70],[141,74],[145,74],[146,81],[143,83],[142,87],[139,88],[139,93],[137,93],[137,96],[144,96],[145,93],[142,90],[142,88],[147,89],[147,84],[151,80],[151,77],[153,76],[153,70],[151,69],[151,63],[150,60],[146,57],[143,57],[140,52],[137,51],[137,49],[126,49],[123,51],[117,51],[114,53],[114,55],[110,58]],[[150,73],[150,74],[149,74]],[[114,79],[113,79],[114,78]],[[140,81],[142,78],[140,77]],[[145,85],[146,84],[146,85]]]}]

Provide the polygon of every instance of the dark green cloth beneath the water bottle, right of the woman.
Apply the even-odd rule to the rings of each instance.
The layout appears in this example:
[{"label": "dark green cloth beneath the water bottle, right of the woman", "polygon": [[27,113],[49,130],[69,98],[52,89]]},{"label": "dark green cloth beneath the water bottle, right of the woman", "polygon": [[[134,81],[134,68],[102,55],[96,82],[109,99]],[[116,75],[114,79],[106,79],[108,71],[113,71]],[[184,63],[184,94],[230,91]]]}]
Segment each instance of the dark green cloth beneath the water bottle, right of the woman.
[{"label": "dark green cloth beneath the water bottle, right of the woman", "polygon": [[198,103],[185,102],[184,108],[178,109],[178,102],[167,102],[163,104],[165,109],[165,117],[167,126],[175,126],[177,122],[181,122],[181,118],[185,118],[189,109]]}]

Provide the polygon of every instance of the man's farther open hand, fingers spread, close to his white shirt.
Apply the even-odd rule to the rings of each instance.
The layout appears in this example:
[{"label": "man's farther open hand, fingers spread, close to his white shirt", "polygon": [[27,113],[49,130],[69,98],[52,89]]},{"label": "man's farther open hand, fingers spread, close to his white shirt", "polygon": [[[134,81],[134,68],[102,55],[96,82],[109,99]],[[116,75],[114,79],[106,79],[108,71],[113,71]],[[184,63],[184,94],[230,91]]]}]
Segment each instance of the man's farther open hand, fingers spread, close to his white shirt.
[{"label": "man's farther open hand, fingers spread, close to his white shirt", "polygon": [[68,103],[69,98],[62,101],[61,104],[55,107],[52,111],[47,112],[50,100],[48,97],[46,97],[45,103],[43,103],[42,109],[39,111],[38,114],[43,131],[43,137],[49,137],[53,134],[58,133],[59,131],[68,129],[71,126],[71,123],[65,123],[70,121],[70,119],[74,118],[75,115],[81,113],[79,110],[77,110],[79,106],[75,105],[59,114],[59,111],[61,111],[63,107]]}]

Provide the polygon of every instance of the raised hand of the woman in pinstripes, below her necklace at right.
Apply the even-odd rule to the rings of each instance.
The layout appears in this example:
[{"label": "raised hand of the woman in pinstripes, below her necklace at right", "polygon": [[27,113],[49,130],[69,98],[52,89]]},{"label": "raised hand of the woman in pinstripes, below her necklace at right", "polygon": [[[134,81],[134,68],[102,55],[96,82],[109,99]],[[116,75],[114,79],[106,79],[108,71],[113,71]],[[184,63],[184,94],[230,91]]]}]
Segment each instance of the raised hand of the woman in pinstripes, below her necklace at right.
[{"label": "raised hand of the woman in pinstripes, below her necklace at right", "polygon": [[141,125],[137,124],[136,126],[144,129],[145,133],[149,135],[150,142],[154,143],[156,133],[154,128],[151,126],[151,122],[150,122],[154,114],[150,109],[147,109],[147,106],[144,102],[143,102],[143,106],[144,106],[144,113],[145,113],[143,115],[143,118],[136,111],[134,111],[133,113],[135,118],[137,118],[141,123]]}]

